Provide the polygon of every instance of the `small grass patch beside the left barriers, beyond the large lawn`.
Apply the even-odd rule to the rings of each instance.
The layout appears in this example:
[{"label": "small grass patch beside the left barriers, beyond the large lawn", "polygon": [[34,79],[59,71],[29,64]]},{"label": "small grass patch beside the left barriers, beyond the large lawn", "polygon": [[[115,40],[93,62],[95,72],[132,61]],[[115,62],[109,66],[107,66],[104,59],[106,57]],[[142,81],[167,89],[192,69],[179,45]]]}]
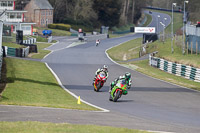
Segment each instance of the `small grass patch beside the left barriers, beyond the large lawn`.
[{"label": "small grass patch beside the left barriers, beyond the large lawn", "polygon": [[31,58],[35,59],[43,59],[45,55],[49,54],[51,51],[44,50],[44,48],[47,48],[51,46],[50,43],[37,43],[38,53],[31,53]]}]

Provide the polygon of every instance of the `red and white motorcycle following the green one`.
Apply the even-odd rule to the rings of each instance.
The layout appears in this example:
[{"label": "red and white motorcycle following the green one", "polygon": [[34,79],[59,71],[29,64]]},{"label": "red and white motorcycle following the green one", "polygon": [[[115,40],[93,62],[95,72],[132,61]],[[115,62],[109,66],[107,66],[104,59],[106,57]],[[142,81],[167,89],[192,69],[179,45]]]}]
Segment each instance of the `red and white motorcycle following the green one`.
[{"label": "red and white motorcycle following the green one", "polygon": [[106,74],[105,72],[100,72],[93,83],[94,91],[98,92],[101,87],[103,87],[104,83],[106,82]]}]

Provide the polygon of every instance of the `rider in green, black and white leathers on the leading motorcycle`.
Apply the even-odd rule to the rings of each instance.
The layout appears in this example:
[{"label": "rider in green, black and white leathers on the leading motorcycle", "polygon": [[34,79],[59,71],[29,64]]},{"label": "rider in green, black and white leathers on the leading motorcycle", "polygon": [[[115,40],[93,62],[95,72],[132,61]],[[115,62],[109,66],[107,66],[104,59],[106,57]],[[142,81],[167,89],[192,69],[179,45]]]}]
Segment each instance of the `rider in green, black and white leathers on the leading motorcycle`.
[{"label": "rider in green, black and white leathers on the leading motorcycle", "polygon": [[[117,84],[119,80],[123,80],[123,79],[125,79],[126,81],[127,89],[130,89],[131,88],[131,73],[126,72],[123,76],[119,76],[117,79],[111,82],[109,92],[112,91],[113,87]],[[123,91],[123,94],[124,95],[128,94],[128,91],[127,90]]]}]

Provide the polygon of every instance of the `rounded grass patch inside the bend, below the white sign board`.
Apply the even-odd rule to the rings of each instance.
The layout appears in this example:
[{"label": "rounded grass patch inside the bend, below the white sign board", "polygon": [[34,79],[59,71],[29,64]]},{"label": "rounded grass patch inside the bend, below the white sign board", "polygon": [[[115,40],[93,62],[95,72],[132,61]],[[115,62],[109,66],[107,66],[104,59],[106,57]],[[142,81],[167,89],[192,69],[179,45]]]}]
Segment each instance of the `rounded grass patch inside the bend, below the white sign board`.
[{"label": "rounded grass patch inside the bend, below the white sign board", "polygon": [[139,57],[139,49],[142,43],[142,39],[135,39],[124,43],[123,45],[119,45],[117,47],[113,47],[109,49],[107,52],[109,56],[115,61],[126,61],[133,58]]}]

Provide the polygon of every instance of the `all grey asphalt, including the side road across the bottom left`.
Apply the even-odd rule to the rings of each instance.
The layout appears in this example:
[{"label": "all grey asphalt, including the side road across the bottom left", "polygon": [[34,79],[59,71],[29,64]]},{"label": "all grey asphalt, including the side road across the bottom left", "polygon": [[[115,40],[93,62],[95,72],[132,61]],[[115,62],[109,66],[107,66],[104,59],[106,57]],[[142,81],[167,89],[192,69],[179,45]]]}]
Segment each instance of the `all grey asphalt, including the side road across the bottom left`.
[{"label": "all grey asphalt, including the side road across the bottom left", "polygon": [[[153,19],[156,18],[153,13]],[[162,17],[164,14],[160,14]],[[170,20],[170,19],[169,19]],[[152,21],[152,25],[156,22]],[[81,99],[110,110],[88,112],[65,109],[0,106],[1,121],[47,121],[56,123],[97,124],[143,130],[180,133],[200,132],[200,93],[172,85],[112,62],[105,51],[128,40],[141,37],[131,34],[101,40],[98,47],[88,42],[69,47],[71,40],[57,38],[58,44],[44,62],[56,73],[63,86]],[[72,38],[73,40],[73,38]],[[59,45],[62,44],[62,45]],[[109,78],[100,92],[94,92],[92,80],[97,68],[108,65]],[[109,84],[125,72],[132,74],[132,88],[118,102],[110,102]],[[11,117],[12,116],[12,117]]]}]

